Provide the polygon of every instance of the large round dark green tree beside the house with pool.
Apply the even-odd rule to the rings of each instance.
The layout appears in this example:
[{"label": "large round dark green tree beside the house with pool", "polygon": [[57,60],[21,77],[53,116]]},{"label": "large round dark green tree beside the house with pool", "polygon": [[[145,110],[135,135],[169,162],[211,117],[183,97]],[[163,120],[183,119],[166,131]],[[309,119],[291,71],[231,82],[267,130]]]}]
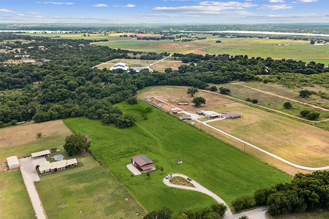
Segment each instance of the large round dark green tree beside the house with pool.
[{"label": "large round dark green tree beside the house with pool", "polygon": [[64,149],[68,155],[73,156],[85,152],[90,147],[90,139],[84,134],[72,134],[65,138]]}]

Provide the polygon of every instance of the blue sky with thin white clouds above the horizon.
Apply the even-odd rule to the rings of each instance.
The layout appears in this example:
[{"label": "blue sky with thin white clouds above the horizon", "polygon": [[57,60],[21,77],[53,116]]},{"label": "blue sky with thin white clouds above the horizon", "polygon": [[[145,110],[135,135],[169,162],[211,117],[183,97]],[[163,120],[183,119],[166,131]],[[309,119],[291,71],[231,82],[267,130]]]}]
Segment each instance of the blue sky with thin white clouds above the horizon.
[{"label": "blue sky with thin white clouds above the horizon", "polygon": [[329,23],[329,0],[1,0],[1,23]]}]

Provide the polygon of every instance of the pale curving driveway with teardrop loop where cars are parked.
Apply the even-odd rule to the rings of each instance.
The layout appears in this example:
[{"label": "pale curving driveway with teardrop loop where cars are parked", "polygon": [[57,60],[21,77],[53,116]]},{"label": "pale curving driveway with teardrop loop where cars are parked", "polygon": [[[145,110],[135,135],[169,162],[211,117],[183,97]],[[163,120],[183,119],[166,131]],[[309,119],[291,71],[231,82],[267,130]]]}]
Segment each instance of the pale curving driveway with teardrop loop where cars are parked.
[{"label": "pale curving driveway with teardrop loop where cars are parked", "polygon": [[[187,178],[186,175],[184,174],[178,174],[178,173],[173,173],[173,176],[181,176],[184,178]],[[214,200],[216,200],[218,203],[222,203],[225,204],[227,206],[227,204],[224,202],[224,200],[222,200],[222,198],[220,198],[218,195],[216,195],[215,193],[213,193],[212,191],[210,191],[209,189],[203,187],[202,185],[198,184],[197,182],[195,182],[194,180],[191,181],[191,183],[195,186],[195,187],[189,187],[189,186],[180,186],[180,185],[175,185],[175,184],[171,184],[169,179],[167,179],[166,177],[163,178],[163,183],[165,183],[165,185],[170,186],[170,187],[174,187],[174,188],[178,188],[178,189],[188,189],[188,190],[193,190],[193,191],[198,191],[198,192],[202,192],[205,193],[211,197],[214,198]],[[249,211],[245,211],[245,212],[241,212],[238,214],[233,214],[231,209],[227,206],[227,210],[225,212],[225,219],[237,219],[241,216],[248,216],[249,219],[266,219],[266,211],[268,210],[267,206],[262,206],[259,208],[255,208]]]}]

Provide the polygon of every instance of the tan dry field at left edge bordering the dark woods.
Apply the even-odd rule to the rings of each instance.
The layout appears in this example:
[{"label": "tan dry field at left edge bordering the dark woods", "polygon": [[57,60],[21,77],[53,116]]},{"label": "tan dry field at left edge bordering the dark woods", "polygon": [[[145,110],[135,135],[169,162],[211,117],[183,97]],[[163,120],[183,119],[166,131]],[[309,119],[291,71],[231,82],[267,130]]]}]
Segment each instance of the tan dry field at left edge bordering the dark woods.
[{"label": "tan dry field at left edge bordering the dark woods", "polygon": [[62,120],[6,127],[1,129],[0,133],[0,148],[18,146],[38,141],[38,137],[36,136],[37,133],[42,133],[41,137],[49,136],[54,133],[66,133],[66,135],[72,134]]}]

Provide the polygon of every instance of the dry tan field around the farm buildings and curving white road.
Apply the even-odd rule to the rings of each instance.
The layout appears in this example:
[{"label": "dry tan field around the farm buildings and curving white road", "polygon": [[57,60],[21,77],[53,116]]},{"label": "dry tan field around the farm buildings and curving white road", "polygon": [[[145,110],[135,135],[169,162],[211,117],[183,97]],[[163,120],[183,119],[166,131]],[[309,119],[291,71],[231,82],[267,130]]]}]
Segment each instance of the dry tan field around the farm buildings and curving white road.
[{"label": "dry tan field around the farm buildings and curving white road", "polygon": [[[255,146],[282,156],[290,162],[311,167],[328,165],[328,131],[261,109],[235,103],[223,98],[221,94],[215,92],[212,94],[212,92],[199,90],[199,92],[195,94],[206,98],[207,102],[205,106],[198,108],[193,104],[178,106],[176,103],[180,101],[191,103],[193,97],[188,95],[186,90],[186,87],[158,86],[147,90],[145,89],[145,91],[141,91],[138,96],[141,99],[158,97],[163,101],[189,112],[214,110],[217,112],[232,111],[240,113],[243,115],[241,119],[211,122],[210,125],[239,137]],[[231,138],[214,133],[214,131],[209,128],[202,127],[202,129],[241,150],[244,149],[242,143],[235,142]],[[275,161],[275,159],[268,157],[262,152],[254,151],[249,148],[247,148],[246,151],[289,174],[296,173],[296,169],[291,169],[282,163],[280,164],[280,162],[278,163],[278,161]]]}]

